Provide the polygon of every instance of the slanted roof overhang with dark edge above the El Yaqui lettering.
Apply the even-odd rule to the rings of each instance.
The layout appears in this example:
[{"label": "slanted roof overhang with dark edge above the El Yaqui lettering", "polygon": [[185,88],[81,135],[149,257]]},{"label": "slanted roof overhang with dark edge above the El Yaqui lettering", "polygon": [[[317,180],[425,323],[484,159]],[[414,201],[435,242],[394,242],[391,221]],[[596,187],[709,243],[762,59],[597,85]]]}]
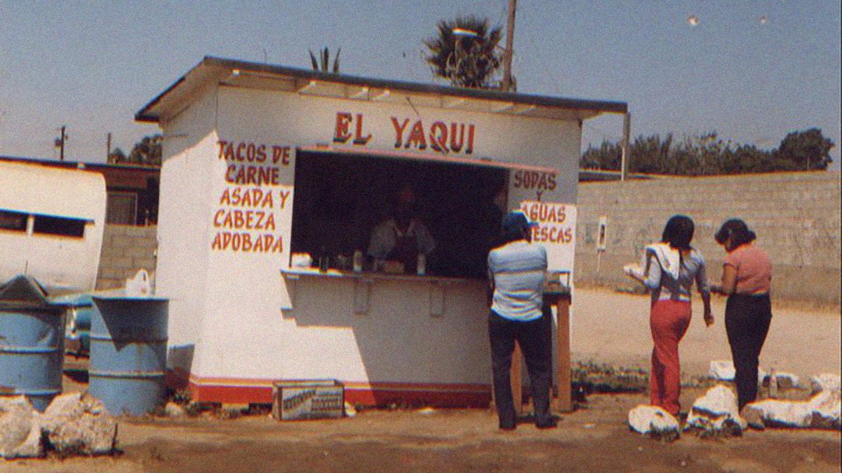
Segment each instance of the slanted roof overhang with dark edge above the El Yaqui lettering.
[{"label": "slanted roof overhang with dark edge above the El Yaqui lettering", "polygon": [[606,113],[624,114],[628,110],[625,102],[388,81],[206,56],[140,109],[135,120],[160,122],[184,109],[193,95],[212,84],[554,120],[587,120]]}]

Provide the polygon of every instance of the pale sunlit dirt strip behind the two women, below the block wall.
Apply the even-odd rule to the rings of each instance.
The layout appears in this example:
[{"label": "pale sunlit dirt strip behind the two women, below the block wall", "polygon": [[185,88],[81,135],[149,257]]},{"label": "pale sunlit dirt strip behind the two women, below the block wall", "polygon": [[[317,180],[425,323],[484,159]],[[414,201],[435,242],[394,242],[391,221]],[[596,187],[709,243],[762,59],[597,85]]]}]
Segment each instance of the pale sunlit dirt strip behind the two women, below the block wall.
[{"label": "pale sunlit dirt strip behind the two women, below the block wall", "polygon": [[[693,320],[679,344],[686,376],[706,375],[711,360],[731,359],[725,333],[725,298],[713,296],[714,325],[705,327],[698,295]],[[810,375],[842,370],[842,317],[839,307],[803,308],[798,303],[773,304],[772,323],[760,368],[775,368],[807,380]],[[649,368],[652,337],[648,295],[610,290],[576,290],[571,307],[570,349],[573,359]]]}]

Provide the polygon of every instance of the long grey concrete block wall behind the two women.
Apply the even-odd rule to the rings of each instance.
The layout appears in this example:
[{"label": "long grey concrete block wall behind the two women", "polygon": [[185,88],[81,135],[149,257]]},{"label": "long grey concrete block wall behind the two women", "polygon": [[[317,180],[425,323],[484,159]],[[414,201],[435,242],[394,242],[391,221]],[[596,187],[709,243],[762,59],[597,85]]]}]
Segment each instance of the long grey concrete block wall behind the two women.
[{"label": "long grey concrete block wall behind the two women", "polygon": [[[709,276],[722,275],[724,250],[713,240],[728,218],[741,218],[773,263],[772,296],[839,306],[839,173],[772,173],[581,183],[578,190],[578,284],[632,287],[621,268],[660,239],[671,215],[695,221],[693,245]],[[598,256],[600,215],[608,218],[606,251]]]}]

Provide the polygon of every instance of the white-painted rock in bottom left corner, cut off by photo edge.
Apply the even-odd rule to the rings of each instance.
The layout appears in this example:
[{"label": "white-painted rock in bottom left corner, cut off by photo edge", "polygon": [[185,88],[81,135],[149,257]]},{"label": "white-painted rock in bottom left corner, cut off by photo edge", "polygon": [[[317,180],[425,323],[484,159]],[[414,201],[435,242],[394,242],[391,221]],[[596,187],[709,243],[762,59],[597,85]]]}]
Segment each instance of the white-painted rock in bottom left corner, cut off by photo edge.
[{"label": "white-painted rock in bottom left corner, cut off by photo edge", "polygon": [[11,459],[43,455],[38,412],[24,396],[0,397],[0,456]]}]

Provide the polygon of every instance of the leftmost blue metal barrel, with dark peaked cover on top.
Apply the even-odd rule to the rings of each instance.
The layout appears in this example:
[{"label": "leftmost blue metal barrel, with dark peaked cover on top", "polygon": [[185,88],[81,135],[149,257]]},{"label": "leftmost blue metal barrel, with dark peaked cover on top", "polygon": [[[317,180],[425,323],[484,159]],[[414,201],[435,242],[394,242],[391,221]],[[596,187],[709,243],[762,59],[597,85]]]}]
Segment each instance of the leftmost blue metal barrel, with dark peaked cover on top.
[{"label": "leftmost blue metal barrel, with dark peaked cover on top", "polygon": [[61,393],[65,310],[28,276],[0,286],[0,396],[23,394],[43,412]]}]

